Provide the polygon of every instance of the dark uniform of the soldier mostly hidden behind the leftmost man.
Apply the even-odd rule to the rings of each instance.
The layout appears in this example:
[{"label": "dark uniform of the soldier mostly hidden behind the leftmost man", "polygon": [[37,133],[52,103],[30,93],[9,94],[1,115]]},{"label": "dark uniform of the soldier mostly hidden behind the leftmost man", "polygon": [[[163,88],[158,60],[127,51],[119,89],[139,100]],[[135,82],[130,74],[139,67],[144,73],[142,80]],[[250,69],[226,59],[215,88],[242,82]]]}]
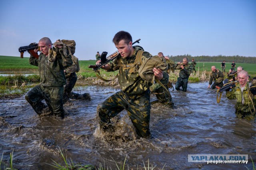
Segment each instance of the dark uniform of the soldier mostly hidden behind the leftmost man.
[{"label": "dark uniform of the soldier mostly hidden behind the leftmost man", "polygon": [[63,102],[66,103],[69,99],[80,99],[80,100],[90,100],[90,94],[77,94],[72,92],[77,80],[76,76],[76,64],[73,63],[71,66],[65,69],[65,76],[67,84],[64,86]]}]

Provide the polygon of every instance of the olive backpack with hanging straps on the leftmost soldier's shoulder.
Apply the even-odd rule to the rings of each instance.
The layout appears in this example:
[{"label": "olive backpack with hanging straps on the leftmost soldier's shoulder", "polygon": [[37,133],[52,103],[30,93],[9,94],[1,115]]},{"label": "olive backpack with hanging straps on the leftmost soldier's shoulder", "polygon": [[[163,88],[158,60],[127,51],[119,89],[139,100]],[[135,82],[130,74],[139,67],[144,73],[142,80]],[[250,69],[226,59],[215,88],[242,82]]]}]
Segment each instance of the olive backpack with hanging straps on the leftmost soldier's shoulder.
[{"label": "olive backpack with hanging straps on the leftmost soldier's shoulder", "polygon": [[53,43],[53,45],[63,45],[63,53],[65,56],[67,55],[68,49],[68,52],[71,55],[73,63],[76,64],[76,72],[78,72],[80,70],[79,61],[78,58],[74,56],[74,53],[76,51],[76,42],[74,40],[58,39],[55,43]]}]

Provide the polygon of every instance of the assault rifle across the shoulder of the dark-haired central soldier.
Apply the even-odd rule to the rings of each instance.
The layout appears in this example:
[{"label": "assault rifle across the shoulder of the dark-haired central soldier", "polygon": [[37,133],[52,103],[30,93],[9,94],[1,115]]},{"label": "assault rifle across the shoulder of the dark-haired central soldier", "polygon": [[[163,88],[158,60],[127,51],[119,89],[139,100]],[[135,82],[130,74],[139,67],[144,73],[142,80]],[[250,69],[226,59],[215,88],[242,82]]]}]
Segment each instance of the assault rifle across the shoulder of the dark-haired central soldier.
[{"label": "assault rifle across the shoulder of the dark-haired central soldier", "polygon": [[[136,41],[134,41],[132,43],[132,45],[134,45],[135,43],[140,43],[139,42],[140,39],[137,39]],[[101,56],[100,56],[100,64],[97,65],[88,65],[88,68],[92,68],[94,71],[100,69],[102,66],[108,64],[110,61],[113,61],[116,57],[118,57],[120,54],[118,51],[114,52],[113,54],[111,54],[110,56],[106,57],[108,54],[108,52],[104,51],[102,52]]]}]

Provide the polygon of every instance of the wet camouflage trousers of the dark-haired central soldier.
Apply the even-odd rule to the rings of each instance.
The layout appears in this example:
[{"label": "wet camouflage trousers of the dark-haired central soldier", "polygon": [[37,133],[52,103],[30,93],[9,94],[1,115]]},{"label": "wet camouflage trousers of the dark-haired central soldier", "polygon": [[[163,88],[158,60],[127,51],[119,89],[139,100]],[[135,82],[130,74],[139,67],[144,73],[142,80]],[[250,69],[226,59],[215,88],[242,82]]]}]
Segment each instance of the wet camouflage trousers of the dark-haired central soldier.
[{"label": "wet camouflage trousers of the dark-haired central soldier", "polygon": [[99,116],[100,128],[108,129],[110,119],[126,109],[136,133],[140,137],[150,137],[150,91],[140,96],[128,96],[123,91],[116,92],[98,105],[97,114]]}]

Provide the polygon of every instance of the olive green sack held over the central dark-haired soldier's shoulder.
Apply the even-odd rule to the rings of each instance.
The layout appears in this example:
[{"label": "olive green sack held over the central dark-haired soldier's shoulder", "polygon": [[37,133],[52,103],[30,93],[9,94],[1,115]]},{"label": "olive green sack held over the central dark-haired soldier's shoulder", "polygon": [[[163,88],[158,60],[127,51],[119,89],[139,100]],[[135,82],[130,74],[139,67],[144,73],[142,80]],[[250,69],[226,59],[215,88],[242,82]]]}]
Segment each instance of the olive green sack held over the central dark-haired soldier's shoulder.
[{"label": "olive green sack held over the central dark-haired soldier's shoulder", "polygon": [[168,70],[168,64],[165,62],[164,57],[159,57],[158,55],[155,55],[143,61],[142,65],[139,68],[140,77],[147,82],[153,83],[155,80],[153,68],[160,68],[163,71]]}]

